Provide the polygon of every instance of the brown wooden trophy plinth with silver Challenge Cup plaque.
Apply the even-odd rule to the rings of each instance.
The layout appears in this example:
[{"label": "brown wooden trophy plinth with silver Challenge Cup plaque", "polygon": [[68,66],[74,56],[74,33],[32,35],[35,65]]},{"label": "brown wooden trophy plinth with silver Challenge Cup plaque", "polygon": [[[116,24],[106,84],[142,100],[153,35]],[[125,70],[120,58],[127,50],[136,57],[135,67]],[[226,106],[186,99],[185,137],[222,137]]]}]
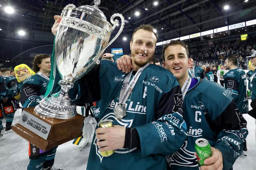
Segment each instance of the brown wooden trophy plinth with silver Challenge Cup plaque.
[{"label": "brown wooden trophy plinth with silver Challenge Cup plaque", "polygon": [[71,119],[41,117],[34,113],[34,107],[29,107],[22,111],[12,130],[36,147],[48,150],[80,137],[83,122],[84,117],[79,114]]}]

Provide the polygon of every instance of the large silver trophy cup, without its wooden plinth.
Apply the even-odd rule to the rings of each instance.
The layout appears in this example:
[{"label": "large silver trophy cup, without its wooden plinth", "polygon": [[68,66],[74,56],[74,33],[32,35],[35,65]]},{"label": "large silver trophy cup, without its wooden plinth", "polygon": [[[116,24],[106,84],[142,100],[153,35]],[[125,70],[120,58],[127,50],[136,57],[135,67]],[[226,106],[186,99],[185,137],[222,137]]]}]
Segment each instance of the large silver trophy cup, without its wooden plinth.
[{"label": "large silver trophy cup, without its wooden plinth", "polygon": [[[100,0],[94,0],[93,6],[68,4],[62,10],[62,19],[55,37],[55,62],[62,80],[58,83],[61,91],[56,97],[43,99],[34,111],[38,115],[68,119],[76,116],[76,106],[71,104],[68,91],[74,82],[100,63],[105,49],[116,40],[124,28],[122,14],[113,14],[110,18],[99,10]],[[118,20],[121,25],[118,33],[108,43],[111,32]]]}]

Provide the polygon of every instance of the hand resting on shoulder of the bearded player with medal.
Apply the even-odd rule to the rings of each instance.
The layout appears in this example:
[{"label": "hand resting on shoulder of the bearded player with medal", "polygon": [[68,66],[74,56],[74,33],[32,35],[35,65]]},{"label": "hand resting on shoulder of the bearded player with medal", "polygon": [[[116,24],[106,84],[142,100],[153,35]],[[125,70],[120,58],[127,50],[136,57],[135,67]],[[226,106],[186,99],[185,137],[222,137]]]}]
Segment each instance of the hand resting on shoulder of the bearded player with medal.
[{"label": "hand resting on shoulder of the bearded player with medal", "polygon": [[116,64],[119,70],[122,72],[128,73],[133,69],[132,58],[129,55],[123,55],[116,60]]}]

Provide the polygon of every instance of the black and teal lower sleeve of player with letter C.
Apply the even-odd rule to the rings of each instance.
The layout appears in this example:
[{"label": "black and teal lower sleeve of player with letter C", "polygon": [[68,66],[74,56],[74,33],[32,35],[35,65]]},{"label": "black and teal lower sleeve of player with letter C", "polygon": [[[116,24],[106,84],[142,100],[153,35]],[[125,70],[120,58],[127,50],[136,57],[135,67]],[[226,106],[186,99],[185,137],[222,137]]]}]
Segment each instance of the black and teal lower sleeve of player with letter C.
[{"label": "black and teal lower sleeve of player with letter C", "polygon": [[223,169],[230,170],[243,152],[243,140],[248,130],[242,128],[242,114],[236,108],[234,100],[212,123],[212,129],[218,133],[214,148],[220,150],[223,157]]}]

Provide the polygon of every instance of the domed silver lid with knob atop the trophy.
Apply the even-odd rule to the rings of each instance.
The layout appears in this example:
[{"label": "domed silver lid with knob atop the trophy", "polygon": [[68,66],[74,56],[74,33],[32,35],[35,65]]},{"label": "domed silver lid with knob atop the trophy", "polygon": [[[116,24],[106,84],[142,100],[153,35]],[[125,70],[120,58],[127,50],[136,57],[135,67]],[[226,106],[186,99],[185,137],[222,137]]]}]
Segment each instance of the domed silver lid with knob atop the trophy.
[{"label": "domed silver lid with knob atop the trophy", "polygon": [[100,19],[107,20],[104,13],[99,9],[99,7],[98,7],[99,5],[100,5],[100,0],[94,0],[93,6],[82,5],[82,6],[79,6],[78,8],[85,10],[86,12],[90,12],[93,15],[96,15]]}]

